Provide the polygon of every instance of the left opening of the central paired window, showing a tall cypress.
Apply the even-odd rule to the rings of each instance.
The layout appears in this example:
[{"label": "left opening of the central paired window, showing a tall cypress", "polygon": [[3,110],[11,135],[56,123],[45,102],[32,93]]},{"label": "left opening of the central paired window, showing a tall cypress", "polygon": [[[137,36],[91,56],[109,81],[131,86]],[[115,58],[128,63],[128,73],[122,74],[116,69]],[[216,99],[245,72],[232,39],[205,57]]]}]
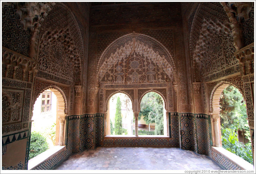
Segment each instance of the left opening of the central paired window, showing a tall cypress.
[{"label": "left opening of the central paired window, showing a tall cypress", "polygon": [[114,94],[108,102],[107,134],[106,135],[135,135],[132,102],[123,93]]}]

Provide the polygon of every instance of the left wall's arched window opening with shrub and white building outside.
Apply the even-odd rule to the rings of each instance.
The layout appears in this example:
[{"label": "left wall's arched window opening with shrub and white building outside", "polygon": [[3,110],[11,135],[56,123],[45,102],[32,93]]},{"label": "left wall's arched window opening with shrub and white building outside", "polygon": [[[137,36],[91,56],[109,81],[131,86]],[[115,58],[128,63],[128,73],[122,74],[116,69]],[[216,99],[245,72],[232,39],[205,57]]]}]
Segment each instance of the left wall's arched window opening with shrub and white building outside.
[{"label": "left wall's arched window opening with shrub and white building outside", "polygon": [[65,101],[60,91],[49,88],[33,106],[29,160],[64,144]]}]

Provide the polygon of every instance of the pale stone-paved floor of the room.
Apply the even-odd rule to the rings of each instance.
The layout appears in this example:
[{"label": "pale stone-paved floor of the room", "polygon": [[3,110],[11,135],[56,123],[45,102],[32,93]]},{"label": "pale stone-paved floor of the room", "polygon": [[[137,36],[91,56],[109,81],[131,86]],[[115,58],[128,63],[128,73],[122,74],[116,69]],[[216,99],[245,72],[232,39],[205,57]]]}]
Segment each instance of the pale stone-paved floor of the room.
[{"label": "pale stone-paved floor of the room", "polygon": [[180,148],[98,147],[71,155],[55,170],[221,170],[206,155]]}]

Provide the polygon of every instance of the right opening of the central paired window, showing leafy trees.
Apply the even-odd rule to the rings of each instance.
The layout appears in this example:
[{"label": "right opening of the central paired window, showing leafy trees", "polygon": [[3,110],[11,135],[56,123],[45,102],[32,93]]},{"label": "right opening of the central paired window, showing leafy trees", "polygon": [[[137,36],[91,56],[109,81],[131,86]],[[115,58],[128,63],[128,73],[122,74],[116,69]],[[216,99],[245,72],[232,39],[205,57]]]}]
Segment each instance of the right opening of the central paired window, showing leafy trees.
[{"label": "right opening of the central paired window, showing leafy trees", "polygon": [[[164,135],[164,100],[155,92],[145,94],[140,103],[138,135]],[[165,120],[166,121],[166,120]],[[166,122],[167,123],[167,122]]]}]

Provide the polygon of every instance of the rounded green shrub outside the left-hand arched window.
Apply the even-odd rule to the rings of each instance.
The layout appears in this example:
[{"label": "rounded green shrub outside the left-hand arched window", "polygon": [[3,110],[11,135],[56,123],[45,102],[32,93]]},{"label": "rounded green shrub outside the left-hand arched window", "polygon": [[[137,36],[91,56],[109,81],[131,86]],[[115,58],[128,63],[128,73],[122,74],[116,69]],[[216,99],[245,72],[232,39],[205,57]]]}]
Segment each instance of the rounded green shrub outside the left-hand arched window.
[{"label": "rounded green shrub outside the left-hand arched window", "polygon": [[48,149],[46,138],[40,132],[31,132],[29,160]]}]

